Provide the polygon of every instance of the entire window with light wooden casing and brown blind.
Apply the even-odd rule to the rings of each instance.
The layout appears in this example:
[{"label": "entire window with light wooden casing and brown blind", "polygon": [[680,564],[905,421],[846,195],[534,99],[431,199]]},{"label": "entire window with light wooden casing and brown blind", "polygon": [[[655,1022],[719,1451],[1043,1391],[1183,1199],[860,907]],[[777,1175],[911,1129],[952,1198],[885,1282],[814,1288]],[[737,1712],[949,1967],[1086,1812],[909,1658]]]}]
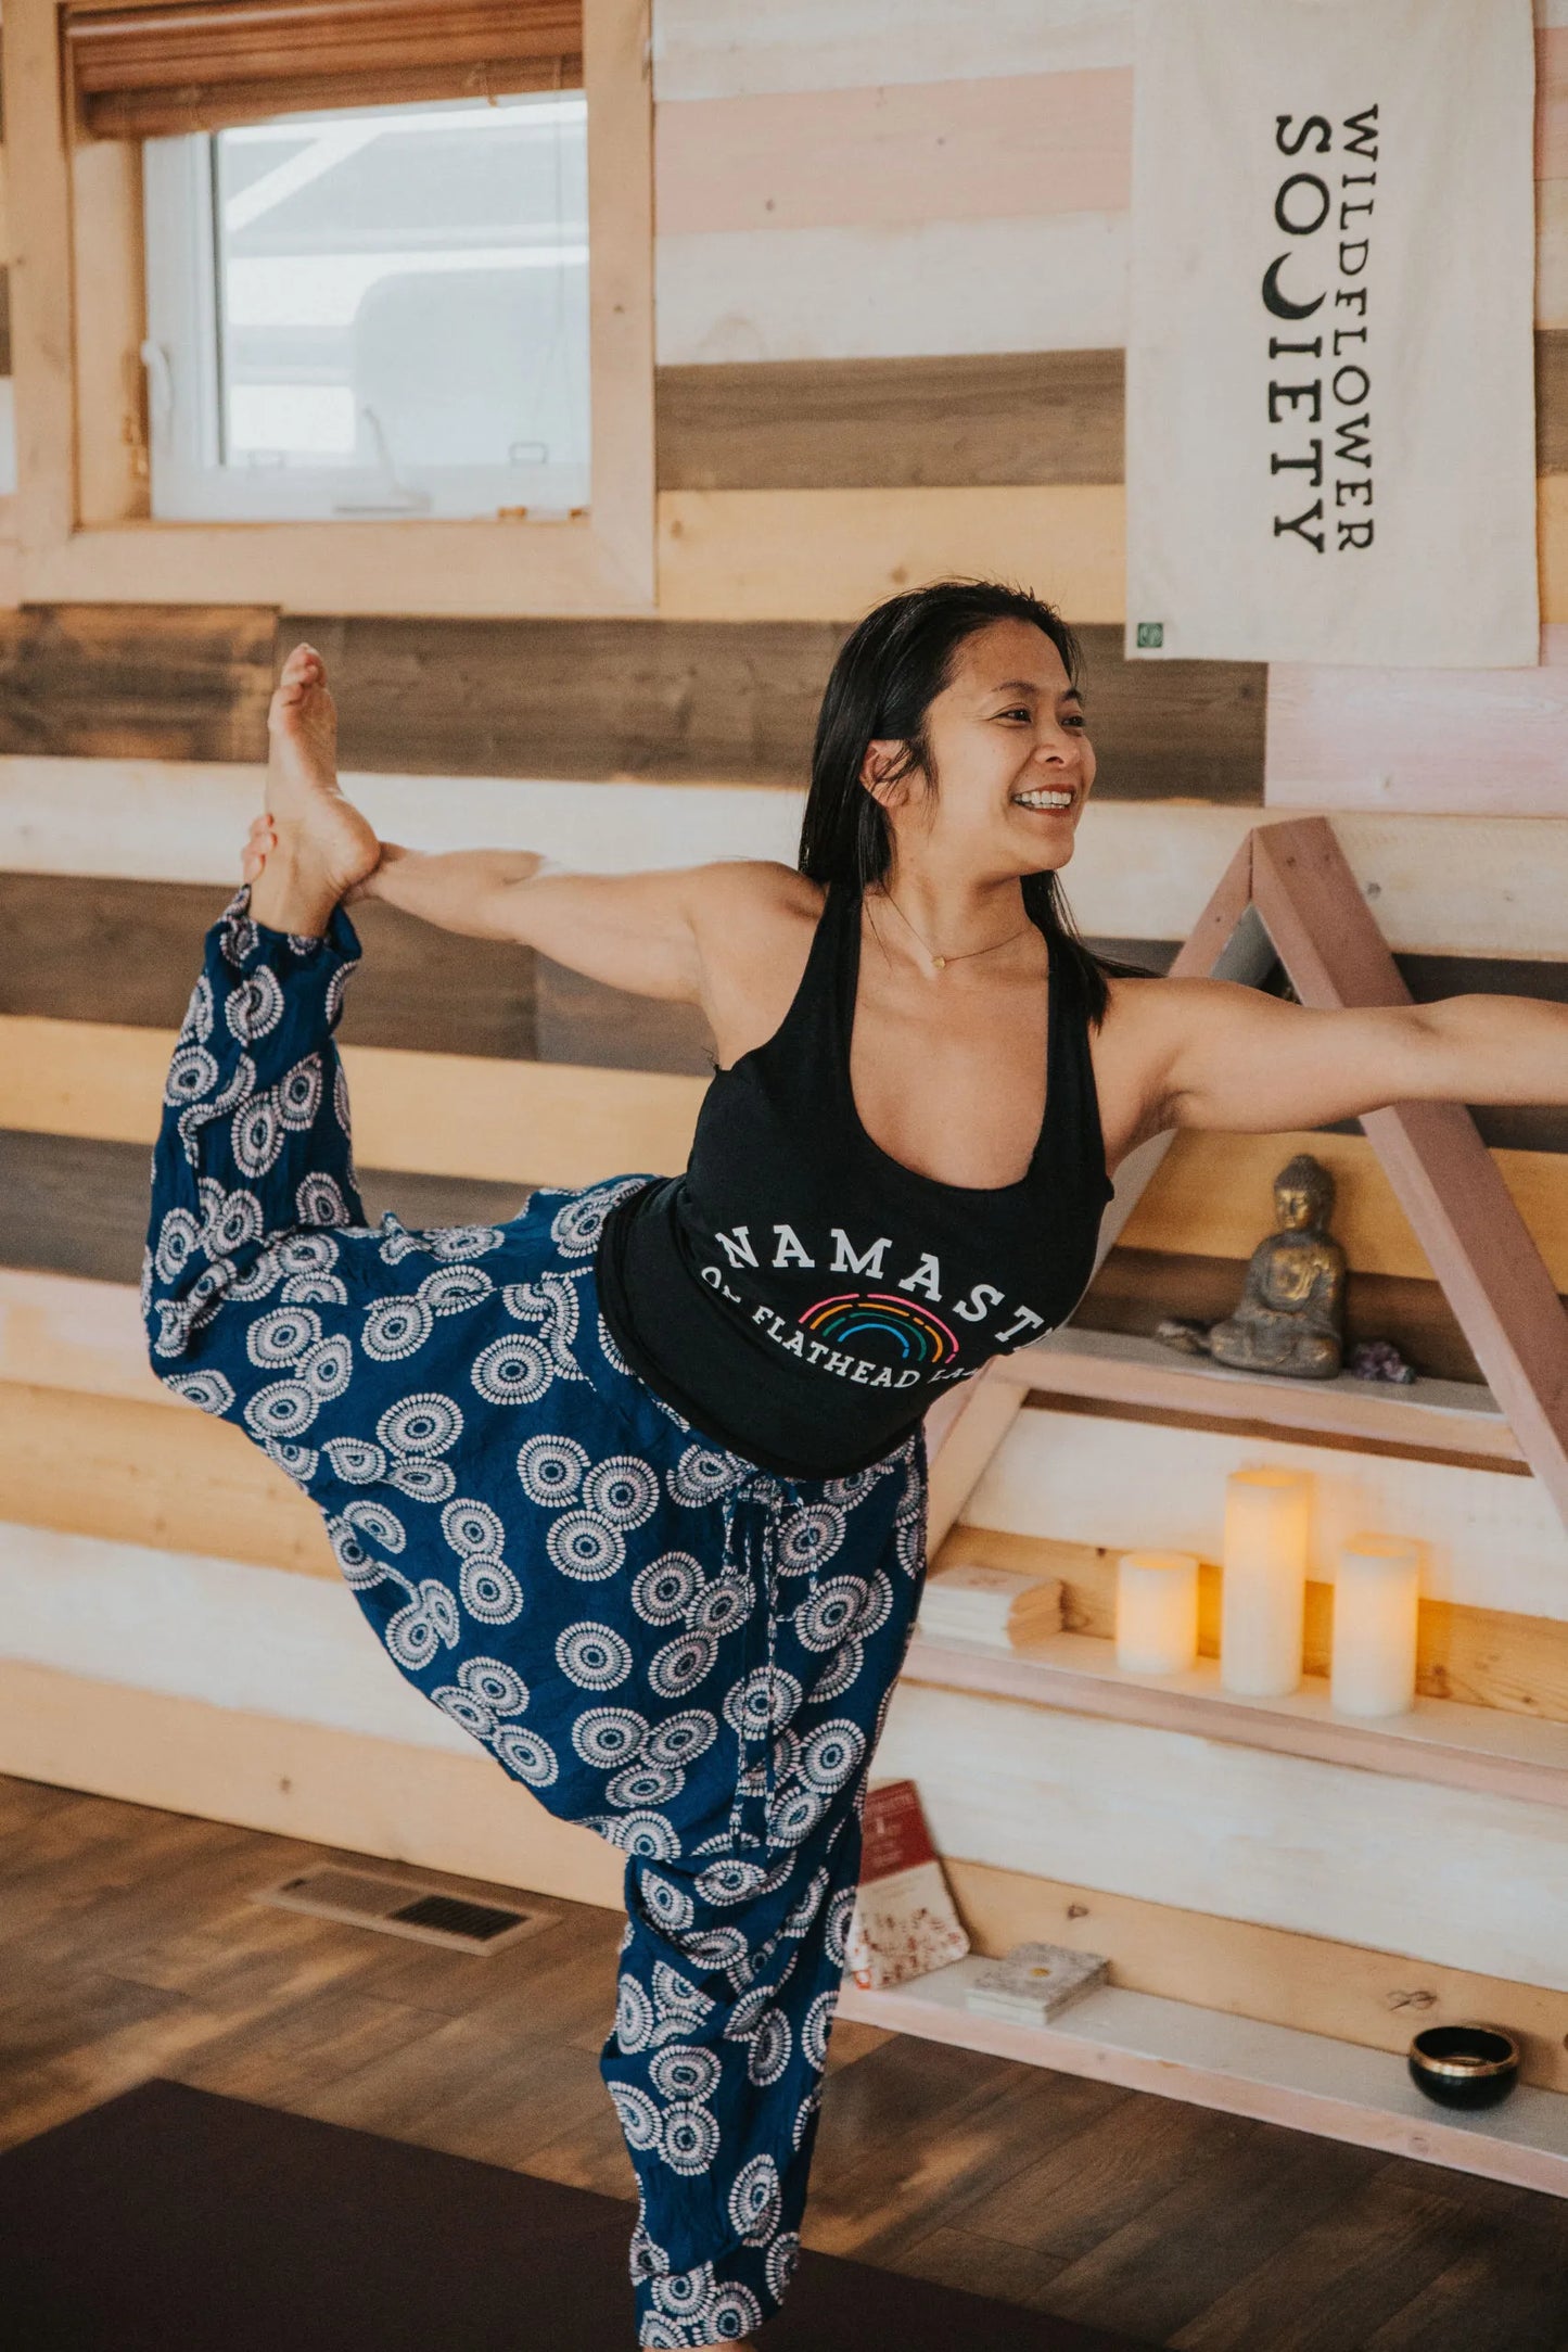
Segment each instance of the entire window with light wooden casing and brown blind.
[{"label": "entire window with light wooden casing and brown blind", "polygon": [[654,609],[649,0],[5,0],[28,602]]}]

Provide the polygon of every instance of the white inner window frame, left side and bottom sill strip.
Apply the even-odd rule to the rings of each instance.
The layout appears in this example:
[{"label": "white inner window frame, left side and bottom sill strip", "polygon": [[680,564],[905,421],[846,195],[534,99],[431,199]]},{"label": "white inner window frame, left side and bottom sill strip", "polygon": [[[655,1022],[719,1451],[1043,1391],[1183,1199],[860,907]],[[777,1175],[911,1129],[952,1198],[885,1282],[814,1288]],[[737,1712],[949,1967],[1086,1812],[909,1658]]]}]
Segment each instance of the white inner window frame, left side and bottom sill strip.
[{"label": "white inner window frame, left side and bottom sill strip", "polygon": [[244,468],[221,463],[212,132],[141,151],[150,494],[160,522],[564,520],[590,506],[588,466]]}]

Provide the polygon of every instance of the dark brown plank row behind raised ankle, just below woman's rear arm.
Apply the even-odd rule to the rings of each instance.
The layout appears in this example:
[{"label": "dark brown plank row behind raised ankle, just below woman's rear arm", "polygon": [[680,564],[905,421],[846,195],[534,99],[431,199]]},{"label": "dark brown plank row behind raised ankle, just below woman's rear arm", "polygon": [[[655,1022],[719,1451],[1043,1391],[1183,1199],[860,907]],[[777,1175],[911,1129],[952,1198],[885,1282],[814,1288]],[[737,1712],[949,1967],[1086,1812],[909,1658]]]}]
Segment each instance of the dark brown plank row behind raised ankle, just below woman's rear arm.
[{"label": "dark brown plank row behind raised ankle, just below woman's rear arm", "polygon": [[[188,882],[0,873],[0,1014],[179,1025],[221,894]],[[529,948],[461,938],[376,901],[353,908],[364,950],[343,1044],[703,1075],[708,1033],[686,1004],[632,997]]]}]

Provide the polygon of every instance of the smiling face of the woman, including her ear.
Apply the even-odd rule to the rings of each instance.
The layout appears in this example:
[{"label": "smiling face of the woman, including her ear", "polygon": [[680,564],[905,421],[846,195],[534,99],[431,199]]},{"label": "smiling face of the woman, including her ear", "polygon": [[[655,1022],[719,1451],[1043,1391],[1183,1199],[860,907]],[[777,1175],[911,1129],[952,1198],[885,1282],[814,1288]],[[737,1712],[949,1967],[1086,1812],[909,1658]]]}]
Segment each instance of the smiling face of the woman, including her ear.
[{"label": "smiling face of the woman, including her ear", "polygon": [[889,811],[896,861],[933,851],[976,877],[1065,866],[1093,786],[1084,703],[1063,656],[1030,621],[966,637],[952,680],[926,710],[936,790],[919,771],[886,783],[900,743],[872,743],[860,781]]}]

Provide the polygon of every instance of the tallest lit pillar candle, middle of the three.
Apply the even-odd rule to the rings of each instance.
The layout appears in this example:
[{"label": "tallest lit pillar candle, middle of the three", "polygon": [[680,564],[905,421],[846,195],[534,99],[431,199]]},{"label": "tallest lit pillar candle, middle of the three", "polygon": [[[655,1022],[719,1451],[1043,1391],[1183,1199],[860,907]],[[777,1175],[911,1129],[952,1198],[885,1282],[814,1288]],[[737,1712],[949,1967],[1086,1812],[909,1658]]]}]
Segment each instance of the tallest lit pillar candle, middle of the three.
[{"label": "tallest lit pillar candle, middle of the three", "polygon": [[1300,1470],[1225,1479],[1220,1684],[1239,1698],[1284,1698],[1302,1679],[1309,1501]]}]

